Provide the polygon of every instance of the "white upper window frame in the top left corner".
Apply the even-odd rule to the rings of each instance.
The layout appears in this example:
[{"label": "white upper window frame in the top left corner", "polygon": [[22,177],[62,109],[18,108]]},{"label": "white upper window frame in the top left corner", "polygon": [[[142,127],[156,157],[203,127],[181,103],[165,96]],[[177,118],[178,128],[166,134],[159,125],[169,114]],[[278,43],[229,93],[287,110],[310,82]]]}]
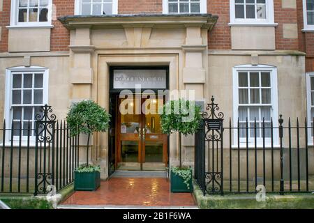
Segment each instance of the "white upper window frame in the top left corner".
[{"label": "white upper window frame in the top left corner", "polygon": [[48,18],[47,22],[18,22],[19,17],[19,8],[18,1],[11,1],[11,10],[10,10],[10,27],[52,27],[52,0],[48,0]]}]

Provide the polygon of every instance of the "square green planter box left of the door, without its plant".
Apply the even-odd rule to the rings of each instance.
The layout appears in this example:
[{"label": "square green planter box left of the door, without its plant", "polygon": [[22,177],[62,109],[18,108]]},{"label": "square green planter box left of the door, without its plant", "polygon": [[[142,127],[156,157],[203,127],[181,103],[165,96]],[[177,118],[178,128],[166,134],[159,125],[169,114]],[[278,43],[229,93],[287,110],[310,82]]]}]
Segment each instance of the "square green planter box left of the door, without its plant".
[{"label": "square green planter box left of the door, without its plant", "polygon": [[91,173],[74,172],[74,190],[75,191],[94,191],[100,187],[100,172]]}]

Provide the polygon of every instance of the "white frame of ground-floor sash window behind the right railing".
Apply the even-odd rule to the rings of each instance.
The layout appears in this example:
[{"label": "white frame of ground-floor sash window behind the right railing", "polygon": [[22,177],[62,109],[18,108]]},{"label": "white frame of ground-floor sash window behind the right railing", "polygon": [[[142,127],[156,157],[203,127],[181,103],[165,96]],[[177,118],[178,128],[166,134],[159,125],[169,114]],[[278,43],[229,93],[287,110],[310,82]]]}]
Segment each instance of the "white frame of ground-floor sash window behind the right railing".
[{"label": "white frame of ground-floor sash window behind the right railing", "polygon": [[[233,86],[233,141],[232,148],[238,147],[238,117],[239,117],[239,72],[270,72],[270,80],[271,80],[271,117],[273,119],[273,127],[274,127],[274,147],[279,146],[279,134],[278,134],[278,79],[277,79],[277,68],[274,66],[267,65],[241,65],[234,66],[232,68],[232,86]],[[267,104],[268,105],[268,104]],[[255,105],[252,105],[255,106]],[[256,105],[258,106],[258,105]],[[261,126],[262,127],[262,126]],[[263,141],[262,137],[257,137],[257,148],[262,148]],[[255,147],[254,137],[248,138],[248,147]],[[246,148],[246,137],[240,138],[239,142],[240,148]],[[267,148],[271,147],[271,138],[265,137],[265,146]]]}]

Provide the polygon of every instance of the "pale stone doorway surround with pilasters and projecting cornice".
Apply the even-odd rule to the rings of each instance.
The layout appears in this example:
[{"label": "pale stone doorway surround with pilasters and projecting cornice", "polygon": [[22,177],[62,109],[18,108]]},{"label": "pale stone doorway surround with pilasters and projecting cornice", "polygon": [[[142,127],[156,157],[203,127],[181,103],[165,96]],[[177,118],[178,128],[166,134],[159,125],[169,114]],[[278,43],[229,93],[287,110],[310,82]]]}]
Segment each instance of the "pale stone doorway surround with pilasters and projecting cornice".
[{"label": "pale stone doorway surround with pilasters and projecting cornice", "polygon": [[[218,17],[202,15],[67,16],[70,30],[70,98],[109,105],[110,66],[169,66],[170,91],[195,90],[195,100],[209,95],[208,31]],[[81,145],[84,138],[81,137]],[[91,156],[108,176],[108,136],[95,134]],[[170,166],[178,163],[178,139],[170,137]],[[184,164],[193,165],[193,141],[183,139]],[[82,154],[82,153],[81,153]]]}]

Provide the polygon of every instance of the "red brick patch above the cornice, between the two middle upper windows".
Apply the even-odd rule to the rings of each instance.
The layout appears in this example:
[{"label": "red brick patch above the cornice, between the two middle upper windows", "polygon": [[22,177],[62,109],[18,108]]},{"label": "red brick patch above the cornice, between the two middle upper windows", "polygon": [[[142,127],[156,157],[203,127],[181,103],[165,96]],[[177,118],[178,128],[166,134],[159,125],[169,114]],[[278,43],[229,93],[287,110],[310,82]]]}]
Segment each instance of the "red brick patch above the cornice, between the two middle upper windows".
[{"label": "red brick patch above the cornice, between the two middle upper windows", "polygon": [[163,0],[119,0],[119,14],[163,13]]}]

